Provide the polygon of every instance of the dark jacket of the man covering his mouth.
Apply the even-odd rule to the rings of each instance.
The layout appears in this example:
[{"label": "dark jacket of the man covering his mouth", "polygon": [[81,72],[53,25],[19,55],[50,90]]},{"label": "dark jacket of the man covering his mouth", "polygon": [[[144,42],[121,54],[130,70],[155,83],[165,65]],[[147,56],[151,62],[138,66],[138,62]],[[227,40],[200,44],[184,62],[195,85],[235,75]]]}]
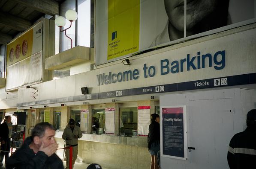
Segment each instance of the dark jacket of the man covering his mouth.
[{"label": "dark jacket of the man covering his mouth", "polygon": [[30,143],[31,137],[27,137],[21,148],[6,160],[6,169],[64,169],[62,160],[55,153],[50,157],[41,151],[35,154]]}]

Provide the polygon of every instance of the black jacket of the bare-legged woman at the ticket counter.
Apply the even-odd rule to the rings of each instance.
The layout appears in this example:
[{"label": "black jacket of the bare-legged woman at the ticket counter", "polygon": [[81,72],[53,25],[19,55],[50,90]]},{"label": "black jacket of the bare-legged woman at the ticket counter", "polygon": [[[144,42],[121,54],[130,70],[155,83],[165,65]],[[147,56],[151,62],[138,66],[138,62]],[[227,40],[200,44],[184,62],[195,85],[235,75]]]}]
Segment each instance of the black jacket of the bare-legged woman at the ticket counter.
[{"label": "black jacket of the bare-legged woman at the ticket counter", "polygon": [[148,149],[152,143],[160,143],[160,124],[156,121],[151,122],[148,128]]}]

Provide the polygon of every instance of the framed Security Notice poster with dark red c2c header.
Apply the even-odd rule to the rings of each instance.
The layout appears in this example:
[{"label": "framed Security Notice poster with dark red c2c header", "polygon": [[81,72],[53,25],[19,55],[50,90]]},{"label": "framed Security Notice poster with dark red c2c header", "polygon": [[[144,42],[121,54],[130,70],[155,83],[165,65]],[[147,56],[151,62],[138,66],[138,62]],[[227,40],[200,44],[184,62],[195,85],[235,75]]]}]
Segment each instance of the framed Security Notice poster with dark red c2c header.
[{"label": "framed Security Notice poster with dark red c2c header", "polygon": [[187,159],[186,107],[162,107],[162,151],[166,157]]}]

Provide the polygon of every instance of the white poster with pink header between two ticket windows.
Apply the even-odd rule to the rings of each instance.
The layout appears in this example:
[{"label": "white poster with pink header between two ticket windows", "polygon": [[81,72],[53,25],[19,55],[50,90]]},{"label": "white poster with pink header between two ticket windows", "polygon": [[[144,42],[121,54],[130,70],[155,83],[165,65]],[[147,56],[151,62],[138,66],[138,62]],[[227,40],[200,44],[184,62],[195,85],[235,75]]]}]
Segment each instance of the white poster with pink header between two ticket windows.
[{"label": "white poster with pink header between two ticket windows", "polygon": [[105,110],[105,133],[114,134],[114,111],[115,108],[106,108]]}]

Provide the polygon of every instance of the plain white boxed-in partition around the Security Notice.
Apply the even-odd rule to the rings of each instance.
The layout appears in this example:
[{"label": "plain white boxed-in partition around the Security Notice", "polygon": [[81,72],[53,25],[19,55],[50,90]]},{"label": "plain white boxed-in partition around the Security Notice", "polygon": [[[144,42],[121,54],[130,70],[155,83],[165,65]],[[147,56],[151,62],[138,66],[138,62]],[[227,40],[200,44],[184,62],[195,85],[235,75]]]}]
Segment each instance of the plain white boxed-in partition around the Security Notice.
[{"label": "plain white boxed-in partition around the Security Notice", "polygon": [[[196,149],[189,152],[184,148],[187,160],[161,156],[161,169],[229,168],[229,141],[246,128],[246,114],[256,108],[256,90],[236,88],[160,96],[160,107],[176,105],[187,106],[187,146]],[[160,126],[163,134],[161,122]]]}]

